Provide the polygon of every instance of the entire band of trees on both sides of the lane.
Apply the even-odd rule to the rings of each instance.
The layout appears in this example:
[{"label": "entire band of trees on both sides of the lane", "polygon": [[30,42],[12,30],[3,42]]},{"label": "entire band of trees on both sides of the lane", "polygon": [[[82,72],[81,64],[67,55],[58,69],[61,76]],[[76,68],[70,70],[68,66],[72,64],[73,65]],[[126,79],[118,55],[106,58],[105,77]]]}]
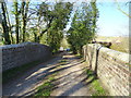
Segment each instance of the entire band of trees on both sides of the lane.
[{"label": "entire band of trees on both sides of the lane", "polygon": [[64,39],[75,53],[81,53],[82,46],[95,36],[98,17],[96,2],[82,3],[76,11],[73,3],[62,1],[32,3],[31,0],[13,0],[11,10],[4,0],[0,4],[4,45],[34,41],[48,45],[52,52],[57,52],[69,21],[71,27]]}]

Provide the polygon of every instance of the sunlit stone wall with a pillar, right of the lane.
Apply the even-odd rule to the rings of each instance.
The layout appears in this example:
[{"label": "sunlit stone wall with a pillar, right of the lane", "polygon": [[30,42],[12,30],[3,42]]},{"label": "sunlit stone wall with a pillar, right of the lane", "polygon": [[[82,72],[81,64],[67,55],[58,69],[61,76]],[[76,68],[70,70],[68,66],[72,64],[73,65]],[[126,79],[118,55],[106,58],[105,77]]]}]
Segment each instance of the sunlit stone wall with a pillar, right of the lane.
[{"label": "sunlit stone wall with a pillar, right of the lane", "polygon": [[130,54],[102,47],[98,44],[84,46],[83,53],[92,70],[96,69],[98,78],[109,90],[110,96],[129,96]]}]

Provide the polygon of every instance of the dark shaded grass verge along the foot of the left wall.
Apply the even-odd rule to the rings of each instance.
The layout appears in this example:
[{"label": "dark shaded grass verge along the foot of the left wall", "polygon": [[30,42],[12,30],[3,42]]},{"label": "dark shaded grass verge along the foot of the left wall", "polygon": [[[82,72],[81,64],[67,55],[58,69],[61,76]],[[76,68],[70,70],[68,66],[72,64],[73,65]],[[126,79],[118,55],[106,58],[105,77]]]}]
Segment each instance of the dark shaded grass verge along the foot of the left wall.
[{"label": "dark shaded grass verge along the foot of the left wall", "polygon": [[27,71],[28,69],[32,69],[33,66],[40,64],[44,61],[34,61],[21,66],[16,66],[10,70],[7,70],[2,73],[2,84],[5,84],[8,82],[10,82],[12,78],[21,75],[23,72]]}]

